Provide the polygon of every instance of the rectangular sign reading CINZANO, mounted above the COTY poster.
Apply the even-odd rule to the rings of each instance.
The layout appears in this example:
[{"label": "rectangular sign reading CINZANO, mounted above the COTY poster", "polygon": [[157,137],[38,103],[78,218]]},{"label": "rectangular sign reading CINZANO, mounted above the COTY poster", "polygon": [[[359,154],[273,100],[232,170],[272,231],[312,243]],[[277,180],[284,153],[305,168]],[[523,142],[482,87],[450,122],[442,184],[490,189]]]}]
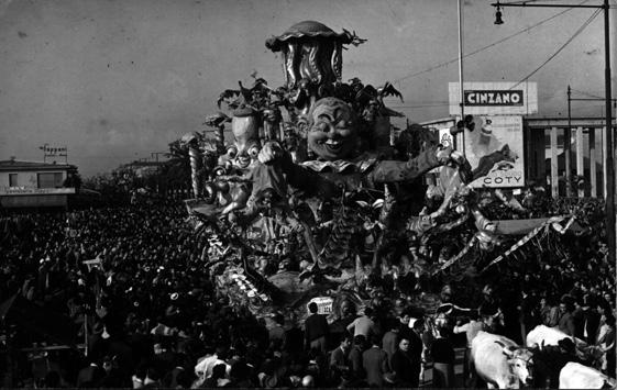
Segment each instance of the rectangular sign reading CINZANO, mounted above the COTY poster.
[{"label": "rectangular sign reading CINZANO, mounted above the COTY poster", "polygon": [[[459,82],[449,83],[450,114],[461,115]],[[536,82],[463,82],[464,113],[525,115],[538,112]]]}]

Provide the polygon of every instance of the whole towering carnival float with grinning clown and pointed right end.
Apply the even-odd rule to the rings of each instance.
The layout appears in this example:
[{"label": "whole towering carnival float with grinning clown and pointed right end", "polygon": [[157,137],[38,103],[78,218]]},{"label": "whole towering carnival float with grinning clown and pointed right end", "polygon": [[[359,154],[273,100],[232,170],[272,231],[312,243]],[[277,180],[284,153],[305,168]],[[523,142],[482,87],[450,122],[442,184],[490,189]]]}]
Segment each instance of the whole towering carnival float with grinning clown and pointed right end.
[{"label": "whole towering carnival float with grinning clown and pointed right end", "polygon": [[343,80],[343,49],[364,42],[315,21],[293,25],[265,43],[282,54],[283,86],[239,82],[208,116],[211,135],[181,140],[194,192],[186,205],[208,242],[206,267],[231,302],[257,315],[301,319],[312,300],[335,320],[384,298],[375,278],[429,313],[450,312],[443,286],[574,221],[494,220],[495,208],[530,210],[541,191],[519,202],[474,189],[487,169],[440,146],[430,129],[395,129],[390,118],[403,114],[385,98],[403,97],[390,82]]}]

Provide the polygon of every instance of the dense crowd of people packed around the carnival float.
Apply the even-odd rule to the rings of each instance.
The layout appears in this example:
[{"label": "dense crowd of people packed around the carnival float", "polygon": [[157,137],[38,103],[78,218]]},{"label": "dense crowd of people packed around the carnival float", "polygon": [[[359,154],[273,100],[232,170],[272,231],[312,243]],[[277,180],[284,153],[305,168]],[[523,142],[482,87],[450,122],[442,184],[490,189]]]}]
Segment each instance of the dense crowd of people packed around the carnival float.
[{"label": "dense crowd of people packed around the carnival float", "polygon": [[[208,243],[196,239],[186,216],[177,202],[3,216],[0,301],[18,294],[65,314],[75,325],[73,342],[85,344],[37,371],[15,350],[51,344],[53,326],[10,327],[9,312],[3,353],[18,369],[4,367],[14,382],[3,385],[417,387],[430,363],[432,385],[454,387],[466,385],[453,379],[456,337],[471,341],[484,328],[524,344],[538,324],[597,345],[598,368],[615,376],[615,265],[598,241],[560,258],[528,259],[526,271],[500,276],[513,285],[495,276],[475,301],[453,293],[466,290],[451,283],[442,302],[478,310],[432,335],[422,308],[396,289],[335,323],[309,305],[304,322],[277,314],[266,326],[217,291],[205,267]],[[422,294],[421,286],[412,293]]]}]

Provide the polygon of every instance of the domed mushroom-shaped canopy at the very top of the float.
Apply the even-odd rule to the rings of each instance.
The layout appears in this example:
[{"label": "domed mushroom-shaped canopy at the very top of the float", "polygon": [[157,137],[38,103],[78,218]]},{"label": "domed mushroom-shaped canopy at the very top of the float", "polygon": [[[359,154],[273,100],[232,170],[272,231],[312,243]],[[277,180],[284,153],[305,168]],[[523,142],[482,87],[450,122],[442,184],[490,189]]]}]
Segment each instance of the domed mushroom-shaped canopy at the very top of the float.
[{"label": "domed mushroom-shaped canopy at the very top of the float", "polygon": [[341,44],[350,44],[353,42],[354,35],[346,30],[340,34],[335,33],[326,24],[316,21],[304,21],[294,24],[283,34],[266,40],[266,47],[273,52],[279,52],[285,43],[304,38],[324,38]]}]

